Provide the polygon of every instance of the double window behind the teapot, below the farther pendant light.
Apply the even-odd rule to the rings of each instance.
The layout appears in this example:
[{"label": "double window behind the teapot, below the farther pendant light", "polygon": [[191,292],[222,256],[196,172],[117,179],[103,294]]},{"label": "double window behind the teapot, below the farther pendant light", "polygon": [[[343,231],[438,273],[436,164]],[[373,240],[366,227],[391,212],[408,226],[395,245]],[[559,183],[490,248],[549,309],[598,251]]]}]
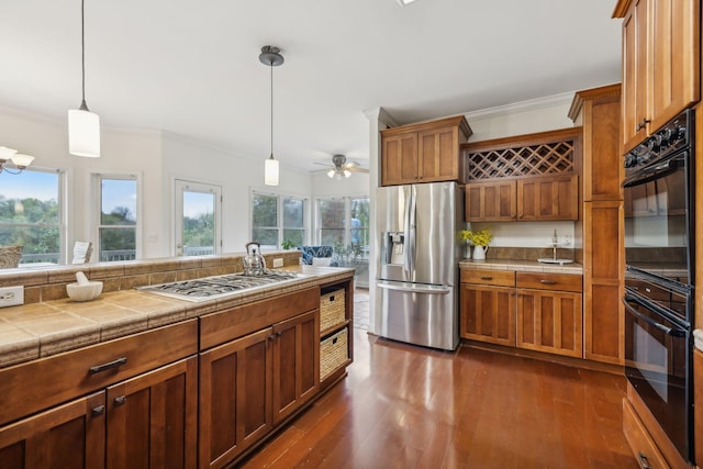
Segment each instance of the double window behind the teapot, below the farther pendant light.
[{"label": "double window behind the teapot, below the farther pendant light", "polygon": [[305,244],[305,199],[252,192],[252,239],[278,248],[283,241]]}]

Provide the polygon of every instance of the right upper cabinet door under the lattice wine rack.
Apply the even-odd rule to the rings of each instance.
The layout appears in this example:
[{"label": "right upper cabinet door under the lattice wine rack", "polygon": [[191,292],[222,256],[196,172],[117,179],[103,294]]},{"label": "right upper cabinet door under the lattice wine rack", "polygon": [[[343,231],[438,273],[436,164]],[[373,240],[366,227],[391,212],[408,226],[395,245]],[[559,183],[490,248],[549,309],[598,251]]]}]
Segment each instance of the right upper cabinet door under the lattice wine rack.
[{"label": "right upper cabinet door under the lattice wine rack", "polygon": [[517,180],[517,220],[578,220],[579,177],[556,175]]}]

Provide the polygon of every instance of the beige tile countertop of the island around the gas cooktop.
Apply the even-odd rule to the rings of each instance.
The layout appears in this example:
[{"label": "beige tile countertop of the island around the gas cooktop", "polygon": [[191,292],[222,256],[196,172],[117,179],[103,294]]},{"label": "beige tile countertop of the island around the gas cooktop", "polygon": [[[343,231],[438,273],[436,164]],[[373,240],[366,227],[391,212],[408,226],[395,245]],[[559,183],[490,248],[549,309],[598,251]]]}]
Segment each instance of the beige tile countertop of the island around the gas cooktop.
[{"label": "beige tile countertop of the island around the gas cooktop", "polygon": [[191,302],[137,290],[102,293],[97,300],[69,299],[0,309],[0,368],[321,283],[348,280],[354,269],[297,266],[300,277],[211,301]]}]

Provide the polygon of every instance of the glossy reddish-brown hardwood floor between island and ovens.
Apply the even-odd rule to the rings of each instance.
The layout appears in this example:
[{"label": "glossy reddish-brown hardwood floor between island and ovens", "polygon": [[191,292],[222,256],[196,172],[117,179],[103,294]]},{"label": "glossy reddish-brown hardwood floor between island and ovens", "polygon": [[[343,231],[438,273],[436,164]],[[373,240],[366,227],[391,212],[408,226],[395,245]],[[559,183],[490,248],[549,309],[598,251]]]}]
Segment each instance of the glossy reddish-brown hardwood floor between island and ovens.
[{"label": "glossy reddish-brown hardwood floor between island and ovens", "polygon": [[243,468],[637,468],[625,379],[355,330],[349,376]]}]

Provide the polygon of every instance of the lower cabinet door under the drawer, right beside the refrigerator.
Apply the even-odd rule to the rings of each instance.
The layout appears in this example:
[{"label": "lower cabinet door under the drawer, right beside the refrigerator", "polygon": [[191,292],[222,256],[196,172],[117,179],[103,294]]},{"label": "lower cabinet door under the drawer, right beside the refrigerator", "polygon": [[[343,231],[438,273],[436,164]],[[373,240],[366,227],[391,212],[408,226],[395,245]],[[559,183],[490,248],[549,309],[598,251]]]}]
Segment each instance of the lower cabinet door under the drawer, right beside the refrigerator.
[{"label": "lower cabinet door under the drawer, right beside the refrigerator", "polygon": [[461,337],[515,346],[515,289],[462,284]]}]

